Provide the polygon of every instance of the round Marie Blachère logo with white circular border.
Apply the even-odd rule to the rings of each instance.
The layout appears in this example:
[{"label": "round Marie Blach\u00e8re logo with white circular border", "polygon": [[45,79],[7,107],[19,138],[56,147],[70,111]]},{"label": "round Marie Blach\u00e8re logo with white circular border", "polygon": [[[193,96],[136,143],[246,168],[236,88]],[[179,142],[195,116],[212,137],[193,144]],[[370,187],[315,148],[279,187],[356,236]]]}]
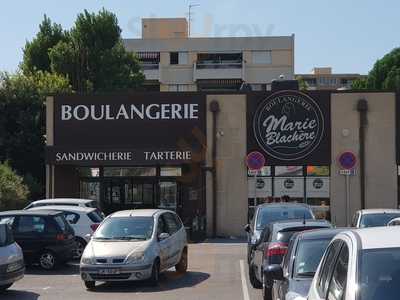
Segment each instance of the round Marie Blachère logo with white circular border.
[{"label": "round Marie Blach\u00e8re logo with white circular border", "polygon": [[259,146],[284,161],[311,154],[324,135],[324,117],[318,104],[297,91],[278,92],[261,102],[253,119]]}]

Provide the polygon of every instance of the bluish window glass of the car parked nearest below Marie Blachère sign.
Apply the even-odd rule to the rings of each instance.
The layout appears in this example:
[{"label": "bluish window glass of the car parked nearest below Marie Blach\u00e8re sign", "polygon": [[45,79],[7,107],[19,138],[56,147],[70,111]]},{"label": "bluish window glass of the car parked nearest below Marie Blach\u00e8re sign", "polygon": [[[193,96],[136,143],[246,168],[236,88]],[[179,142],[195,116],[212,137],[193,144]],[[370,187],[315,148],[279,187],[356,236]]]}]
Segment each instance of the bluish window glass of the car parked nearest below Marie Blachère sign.
[{"label": "bluish window glass of the car parked nearest below Marie Blach\u00e8re sign", "polygon": [[313,215],[306,207],[264,207],[258,212],[256,228],[261,230],[272,222],[303,218],[313,219]]}]

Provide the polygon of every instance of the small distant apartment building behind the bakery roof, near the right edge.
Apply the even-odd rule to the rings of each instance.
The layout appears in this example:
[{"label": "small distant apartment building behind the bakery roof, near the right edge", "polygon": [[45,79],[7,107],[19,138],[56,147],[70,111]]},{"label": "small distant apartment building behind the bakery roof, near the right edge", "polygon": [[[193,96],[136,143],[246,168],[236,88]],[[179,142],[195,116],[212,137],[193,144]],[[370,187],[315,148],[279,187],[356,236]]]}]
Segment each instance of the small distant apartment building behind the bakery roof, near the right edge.
[{"label": "small distant apartment building behind the bakery roof, near the right edge", "polygon": [[331,67],[314,68],[311,74],[296,74],[304,80],[308,90],[348,90],[353,81],[366,77],[361,74],[332,73]]}]

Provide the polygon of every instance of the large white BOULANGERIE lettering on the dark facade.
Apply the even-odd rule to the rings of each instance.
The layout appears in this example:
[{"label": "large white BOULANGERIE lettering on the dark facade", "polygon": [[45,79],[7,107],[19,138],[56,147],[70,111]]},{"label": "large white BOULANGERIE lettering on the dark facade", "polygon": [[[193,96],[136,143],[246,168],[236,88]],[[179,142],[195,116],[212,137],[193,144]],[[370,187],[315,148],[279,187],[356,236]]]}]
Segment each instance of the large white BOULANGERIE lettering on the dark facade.
[{"label": "large white BOULANGERIE lettering on the dark facade", "polygon": [[61,105],[61,121],[101,120],[196,120],[199,118],[197,103],[149,104],[91,104]]}]

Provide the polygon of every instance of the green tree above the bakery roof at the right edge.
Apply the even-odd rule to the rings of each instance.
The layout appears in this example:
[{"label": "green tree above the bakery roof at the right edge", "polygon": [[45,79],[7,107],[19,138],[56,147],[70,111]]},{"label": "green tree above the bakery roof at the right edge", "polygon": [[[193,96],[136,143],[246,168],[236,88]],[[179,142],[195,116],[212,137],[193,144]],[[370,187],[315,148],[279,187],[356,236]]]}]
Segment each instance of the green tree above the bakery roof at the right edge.
[{"label": "green tree above the bakery roof at the right edge", "polygon": [[379,59],[367,78],[355,81],[353,88],[400,91],[400,48]]}]

